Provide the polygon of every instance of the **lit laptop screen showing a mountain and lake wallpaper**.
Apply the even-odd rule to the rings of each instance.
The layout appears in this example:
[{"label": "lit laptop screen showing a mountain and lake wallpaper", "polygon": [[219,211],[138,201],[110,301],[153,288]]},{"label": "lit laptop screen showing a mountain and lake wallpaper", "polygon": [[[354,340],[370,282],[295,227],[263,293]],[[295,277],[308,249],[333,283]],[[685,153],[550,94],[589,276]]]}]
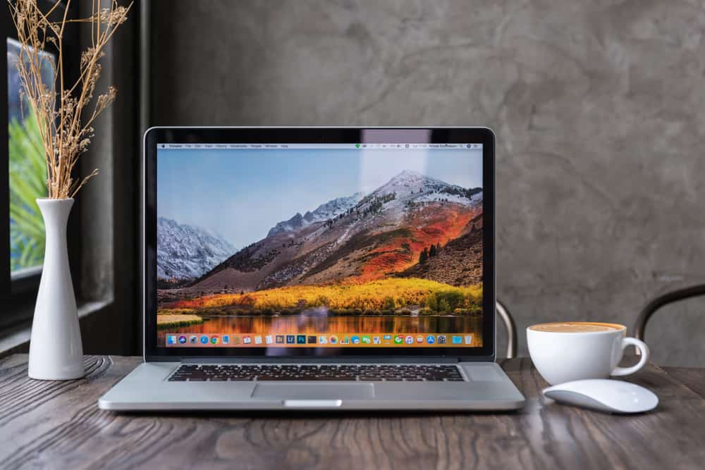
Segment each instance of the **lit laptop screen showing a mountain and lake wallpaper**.
[{"label": "lit laptop screen showing a mountain and lake wallpaper", "polygon": [[157,346],[482,347],[482,161],[157,142]]}]

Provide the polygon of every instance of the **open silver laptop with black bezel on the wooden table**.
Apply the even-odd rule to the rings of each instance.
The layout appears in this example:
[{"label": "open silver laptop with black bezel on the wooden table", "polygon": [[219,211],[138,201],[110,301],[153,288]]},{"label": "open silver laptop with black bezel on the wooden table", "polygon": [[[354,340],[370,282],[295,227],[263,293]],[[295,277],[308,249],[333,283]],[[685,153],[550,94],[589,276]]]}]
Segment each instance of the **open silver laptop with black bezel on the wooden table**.
[{"label": "open silver laptop with black bezel on the wooden table", "polygon": [[511,410],[487,128],[151,128],[110,410]]}]

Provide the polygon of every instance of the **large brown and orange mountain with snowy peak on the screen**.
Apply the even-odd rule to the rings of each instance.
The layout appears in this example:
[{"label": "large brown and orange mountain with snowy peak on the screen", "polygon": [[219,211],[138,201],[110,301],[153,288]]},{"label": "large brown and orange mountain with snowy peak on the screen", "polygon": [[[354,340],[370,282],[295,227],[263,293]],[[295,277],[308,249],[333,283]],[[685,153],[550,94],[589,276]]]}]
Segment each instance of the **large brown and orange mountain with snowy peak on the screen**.
[{"label": "large brown and orange mountain with snowy peak on the screen", "polygon": [[[482,188],[403,171],[367,195],[339,197],[277,223],[262,240],[231,252],[188,288],[249,292],[387,276],[477,283],[481,215]],[[431,245],[439,254],[419,269],[419,254]]]}]

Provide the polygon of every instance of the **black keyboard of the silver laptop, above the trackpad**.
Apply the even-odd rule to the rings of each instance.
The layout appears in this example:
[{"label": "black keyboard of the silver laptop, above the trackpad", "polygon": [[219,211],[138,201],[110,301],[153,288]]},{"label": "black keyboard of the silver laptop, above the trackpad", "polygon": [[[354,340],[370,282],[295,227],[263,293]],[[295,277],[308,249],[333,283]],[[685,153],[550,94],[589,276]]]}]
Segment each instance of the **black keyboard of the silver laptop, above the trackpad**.
[{"label": "black keyboard of the silver laptop, above the trackpad", "polygon": [[182,364],[168,380],[462,382],[463,378],[458,366],[443,364]]}]

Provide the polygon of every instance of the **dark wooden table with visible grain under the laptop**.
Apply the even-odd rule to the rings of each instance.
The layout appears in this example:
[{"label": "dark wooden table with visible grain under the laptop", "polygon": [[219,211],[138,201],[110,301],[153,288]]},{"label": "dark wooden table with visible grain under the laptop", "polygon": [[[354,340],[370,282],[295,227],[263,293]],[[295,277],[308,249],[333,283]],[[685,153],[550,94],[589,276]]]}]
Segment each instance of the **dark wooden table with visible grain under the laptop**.
[{"label": "dark wooden table with visible grain under the laptop", "polygon": [[632,376],[661,400],[617,416],[541,397],[529,359],[502,366],[528,399],[486,414],[114,414],[97,400],[139,362],[86,357],[87,377],[31,381],[0,360],[0,467],[694,469],[705,465],[705,369]]}]

